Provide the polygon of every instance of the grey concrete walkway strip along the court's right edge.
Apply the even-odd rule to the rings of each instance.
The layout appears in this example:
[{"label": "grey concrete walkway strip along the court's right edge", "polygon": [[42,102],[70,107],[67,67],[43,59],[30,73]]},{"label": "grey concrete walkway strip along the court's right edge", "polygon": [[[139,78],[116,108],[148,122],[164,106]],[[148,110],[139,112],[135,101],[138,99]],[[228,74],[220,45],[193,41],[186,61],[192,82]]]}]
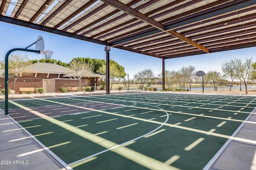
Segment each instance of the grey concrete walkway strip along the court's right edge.
[{"label": "grey concrete walkway strip along the court's right edge", "polygon": [[210,170],[256,170],[255,109]]}]

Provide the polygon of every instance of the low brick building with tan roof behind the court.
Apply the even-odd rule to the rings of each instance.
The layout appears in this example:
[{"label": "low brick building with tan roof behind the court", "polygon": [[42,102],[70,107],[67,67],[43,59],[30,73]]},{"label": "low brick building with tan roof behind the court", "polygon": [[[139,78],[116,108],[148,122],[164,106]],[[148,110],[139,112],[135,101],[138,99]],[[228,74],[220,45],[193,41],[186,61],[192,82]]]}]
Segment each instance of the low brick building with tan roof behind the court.
[{"label": "low brick building with tan roof behind the court", "polygon": [[[15,82],[15,94],[19,94],[20,87],[46,88],[46,92],[60,92],[61,87],[79,87],[79,80],[70,76],[68,68],[52,63],[34,63],[28,70],[34,73],[30,76],[21,76]],[[100,89],[100,74],[92,73],[81,80],[81,87],[95,86]],[[14,78],[9,76],[8,88],[12,89]],[[1,89],[4,89],[4,77],[0,78]]]}]

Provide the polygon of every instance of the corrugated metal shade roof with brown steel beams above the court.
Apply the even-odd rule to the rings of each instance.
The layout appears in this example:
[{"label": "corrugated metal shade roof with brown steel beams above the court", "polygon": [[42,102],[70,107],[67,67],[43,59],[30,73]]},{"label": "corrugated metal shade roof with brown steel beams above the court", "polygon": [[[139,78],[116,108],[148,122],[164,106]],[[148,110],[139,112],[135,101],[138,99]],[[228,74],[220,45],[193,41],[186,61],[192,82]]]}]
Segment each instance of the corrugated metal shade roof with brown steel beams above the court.
[{"label": "corrugated metal shade roof with brown steel beams above the court", "polygon": [[256,46],[255,0],[21,0],[0,21],[161,59]]}]

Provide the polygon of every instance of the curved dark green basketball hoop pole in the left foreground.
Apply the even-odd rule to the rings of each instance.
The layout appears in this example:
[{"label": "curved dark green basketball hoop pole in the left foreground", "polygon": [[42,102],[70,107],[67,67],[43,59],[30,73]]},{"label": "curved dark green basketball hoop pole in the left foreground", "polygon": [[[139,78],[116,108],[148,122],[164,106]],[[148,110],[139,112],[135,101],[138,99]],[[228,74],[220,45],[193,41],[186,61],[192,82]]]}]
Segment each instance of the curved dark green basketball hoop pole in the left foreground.
[{"label": "curved dark green basketball hoop pole in the left foreground", "polygon": [[5,73],[4,73],[4,94],[5,94],[5,108],[4,108],[4,111],[5,111],[5,114],[8,115],[8,57],[10,55],[10,53],[12,53],[13,51],[28,51],[28,52],[34,52],[34,53],[40,53],[40,50],[30,50],[30,49],[11,49],[10,51],[8,51],[6,53],[6,56],[5,56],[5,63],[4,63],[4,70],[5,70]]}]

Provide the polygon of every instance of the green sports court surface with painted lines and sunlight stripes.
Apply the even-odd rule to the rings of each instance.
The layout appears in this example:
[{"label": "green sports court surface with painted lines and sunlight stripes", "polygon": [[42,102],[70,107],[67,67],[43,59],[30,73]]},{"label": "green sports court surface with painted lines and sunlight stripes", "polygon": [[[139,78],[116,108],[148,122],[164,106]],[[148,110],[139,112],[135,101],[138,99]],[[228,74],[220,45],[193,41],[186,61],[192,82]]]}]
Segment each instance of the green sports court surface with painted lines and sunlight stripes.
[{"label": "green sports court surface with painted lines and sunlight stripes", "polygon": [[70,95],[13,100],[9,115],[74,170],[199,170],[255,107],[253,96]]}]

